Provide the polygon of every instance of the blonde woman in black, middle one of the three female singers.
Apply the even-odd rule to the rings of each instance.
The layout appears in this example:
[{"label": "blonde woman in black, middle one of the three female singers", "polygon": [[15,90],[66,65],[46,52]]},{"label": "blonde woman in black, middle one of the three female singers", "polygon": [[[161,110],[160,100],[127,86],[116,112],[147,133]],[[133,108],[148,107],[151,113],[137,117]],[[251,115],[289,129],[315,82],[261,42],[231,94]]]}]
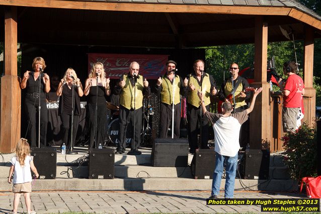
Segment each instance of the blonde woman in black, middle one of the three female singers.
[{"label": "blonde woman in black, middle one of the three female singers", "polygon": [[81,115],[80,97],[84,95],[83,86],[72,68],[68,68],[61,79],[58,88],[57,96],[59,96],[58,115],[61,117],[63,140],[66,147],[70,146],[71,115],[72,115],[72,85],[73,86],[73,126],[72,126],[72,145],[76,137],[79,116]]}]

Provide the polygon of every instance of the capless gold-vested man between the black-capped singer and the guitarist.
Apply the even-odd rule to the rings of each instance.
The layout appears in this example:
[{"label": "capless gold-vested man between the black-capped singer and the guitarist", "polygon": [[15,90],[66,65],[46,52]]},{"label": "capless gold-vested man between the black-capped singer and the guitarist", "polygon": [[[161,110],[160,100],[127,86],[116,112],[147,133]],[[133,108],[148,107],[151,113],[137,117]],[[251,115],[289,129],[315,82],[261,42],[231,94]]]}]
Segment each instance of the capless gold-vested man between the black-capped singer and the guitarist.
[{"label": "capless gold-vested man between the black-capped singer and the guitarist", "polygon": [[214,78],[204,72],[204,61],[198,59],[194,62],[195,74],[188,76],[188,98],[187,98],[187,122],[188,122],[188,141],[190,146],[190,153],[195,153],[198,147],[199,128],[202,130],[201,149],[208,149],[208,119],[202,115],[200,108],[200,99],[197,91],[202,91],[204,95],[203,102],[205,103],[207,111],[209,111],[210,96],[216,94],[216,85]]}]

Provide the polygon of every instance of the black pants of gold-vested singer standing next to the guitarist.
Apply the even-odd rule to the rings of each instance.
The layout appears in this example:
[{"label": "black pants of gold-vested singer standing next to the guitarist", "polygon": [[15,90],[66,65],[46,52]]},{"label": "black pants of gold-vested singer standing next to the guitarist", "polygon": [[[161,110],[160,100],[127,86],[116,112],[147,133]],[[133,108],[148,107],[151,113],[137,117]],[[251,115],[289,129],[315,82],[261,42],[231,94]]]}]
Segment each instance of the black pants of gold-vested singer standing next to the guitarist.
[{"label": "black pants of gold-vested singer standing next to the guitarist", "polygon": [[[209,110],[209,105],[206,106],[206,109]],[[196,108],[189,103],[187,104],[188,143],[192,153],[199,149],[197,135],[200,133],[200,124],[202,124],[201,149],[208,149],[208,119],[203,114],[201,118],[200,112],[200,107]],[[201,120],[202,123],[200,123]]]}]

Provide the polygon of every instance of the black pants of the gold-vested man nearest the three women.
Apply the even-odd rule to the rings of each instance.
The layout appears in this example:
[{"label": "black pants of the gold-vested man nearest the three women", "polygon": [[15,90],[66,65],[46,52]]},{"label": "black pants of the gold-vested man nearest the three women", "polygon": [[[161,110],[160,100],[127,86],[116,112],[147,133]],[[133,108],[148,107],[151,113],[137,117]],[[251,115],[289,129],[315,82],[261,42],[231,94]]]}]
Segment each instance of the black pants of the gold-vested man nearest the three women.
[{"label": "black pants of the gold-vested man nearest the three women", "polygon": [[120,119],[120,128],[119,128],[119,145],[117,147],[117,151],[124,152],[126,149],[126,136],[127,128],[129,123],[134,124],[135,122],[135,130],[133,131],[135,134],[135,142],[133,142],[133,137],[131,138],[131,151],[137,150],[140,146],[140,133],[142,128],[142,117],[143,111],[142,107],[135,110],[135,121],[134,121],[134,109],[127,109],[123,106],[119,107],[119,119]]}]

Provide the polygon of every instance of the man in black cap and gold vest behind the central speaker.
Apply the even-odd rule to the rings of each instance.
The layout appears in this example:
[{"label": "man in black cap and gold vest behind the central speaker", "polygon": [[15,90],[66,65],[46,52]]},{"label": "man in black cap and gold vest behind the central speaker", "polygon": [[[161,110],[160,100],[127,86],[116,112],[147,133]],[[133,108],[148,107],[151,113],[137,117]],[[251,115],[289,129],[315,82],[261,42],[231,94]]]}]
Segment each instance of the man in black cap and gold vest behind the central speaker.
[{"label": "man in black cap and gold vest behind the central speaker", "polygon": [[[167,138],[169,127],[172,128],[173,100],[174,100],[174,138],[180,138],[181,108],[180,94],[184,96],[187,91],[188,80],[183,79],[174,73],[176,62],[169,60],[166,63],[166,74],[159,77],[155,86],[158,95],[161,95],[161,114],[159,114],[160,126],[159,137]],[[174,95],[173,95],[174,83]],[[185,88],[185,89],[184,89]],[[174,98],[174,99],[173,99]],[[172,135],[172,134],[171,134]]]}]

